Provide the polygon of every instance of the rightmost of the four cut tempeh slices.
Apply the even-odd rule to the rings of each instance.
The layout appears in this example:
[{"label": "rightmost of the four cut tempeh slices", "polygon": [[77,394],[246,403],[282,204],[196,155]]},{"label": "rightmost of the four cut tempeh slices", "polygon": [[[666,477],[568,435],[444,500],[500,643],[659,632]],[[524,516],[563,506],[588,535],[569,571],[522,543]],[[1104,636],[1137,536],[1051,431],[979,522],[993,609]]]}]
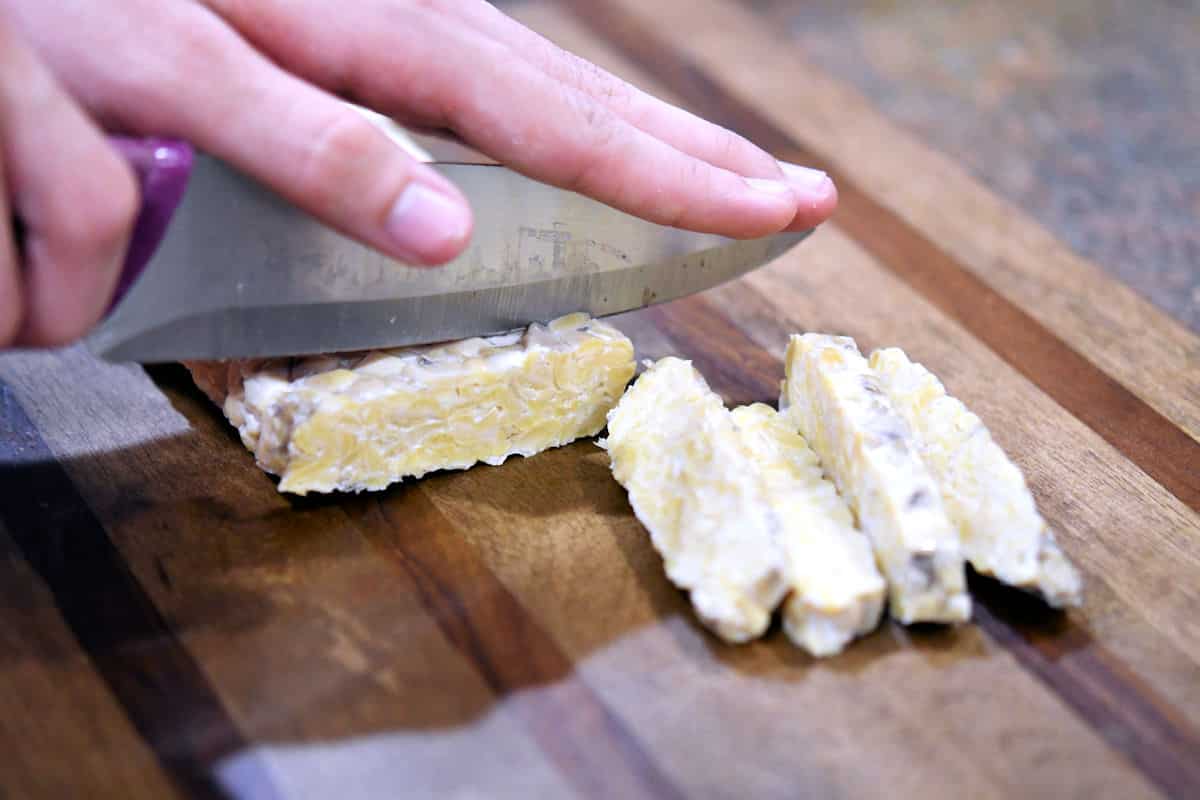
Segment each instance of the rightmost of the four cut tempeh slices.
[{"label": "rightmost of the four cut tempeh slices", "polygon": [[916,433],[971,565],[1051,606],[1078,606],[1079,573],[1038,513],[1021,470],[983,421],[904,350],[876,350],[870,365]]}]

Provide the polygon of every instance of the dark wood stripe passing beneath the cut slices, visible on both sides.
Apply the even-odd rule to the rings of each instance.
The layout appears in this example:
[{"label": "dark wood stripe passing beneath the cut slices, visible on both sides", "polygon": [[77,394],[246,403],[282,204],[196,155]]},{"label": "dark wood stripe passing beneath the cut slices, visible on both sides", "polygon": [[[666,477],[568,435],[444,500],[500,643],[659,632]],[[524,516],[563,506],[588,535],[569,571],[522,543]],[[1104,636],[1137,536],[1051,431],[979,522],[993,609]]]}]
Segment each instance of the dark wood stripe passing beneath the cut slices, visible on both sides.
[{"label": "dark wood stripe passing beneath the cut slices, visible on both sides", "polygon": [[[716,373],[721,378],[714,389],[754,396],[782,374],[779,362],[703,297],[660,306],[655,313],[680,355],[696,356],[697,366],[712,343],[721,342],[726,367]],[[744,369],[743,377],[730,378],[732,369]],[[995,581],[973,578],[971,591],[974,621],[1147,780],[1171,796],[1200,786],[1200,732],[1086,628]]]}]

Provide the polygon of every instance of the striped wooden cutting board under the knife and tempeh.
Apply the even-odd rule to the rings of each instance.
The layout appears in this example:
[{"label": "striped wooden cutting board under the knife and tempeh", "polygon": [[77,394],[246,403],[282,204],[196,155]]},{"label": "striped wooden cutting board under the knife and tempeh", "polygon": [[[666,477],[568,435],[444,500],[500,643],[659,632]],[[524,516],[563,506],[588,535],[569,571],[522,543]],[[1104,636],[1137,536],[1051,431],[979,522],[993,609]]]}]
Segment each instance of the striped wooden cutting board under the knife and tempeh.
[{"label": "striped wooden cutting board under the knife and tempeh", "polygon": [[[650,10],[650,6],[654,10]],[[787,333],[900,345],[1026,470],[1086,603],[814,661],[726,646],[577,443],[282,497],[181,368],[0,359],[0,796],[1187,796],[1200,341],[722,0],[521,4],[780,157],[836,221],[617,319],[773,402]]]}]

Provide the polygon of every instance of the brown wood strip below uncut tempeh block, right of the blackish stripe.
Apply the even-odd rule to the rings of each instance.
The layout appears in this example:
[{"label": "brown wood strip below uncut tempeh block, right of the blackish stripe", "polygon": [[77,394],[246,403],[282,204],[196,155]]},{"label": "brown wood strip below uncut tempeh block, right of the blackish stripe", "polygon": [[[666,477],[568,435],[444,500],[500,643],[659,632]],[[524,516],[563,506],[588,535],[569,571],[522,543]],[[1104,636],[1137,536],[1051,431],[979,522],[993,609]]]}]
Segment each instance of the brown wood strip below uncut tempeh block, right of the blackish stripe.
[{"label": "brown wood strip below uncut tempeh block, right of the blackish stripe", "polygon": [[[568,793],[515,718],[510,705],[526,700],[498,702],[416,587],[379,558],[341,504],[281,497],[186,373],[157,373],[166,395],[122,381],[124,402],[94,407],[91,425],[74,429],[64,409],[84,402],[96,372],[109,381],[124,375],[77,355],[25,366],[20,375],[0,374],[12,377],[18,395],[30,372],[61,381],[53,405],[34,413],[42,433],[58,449],[96,453],[71,459],[68,470],[229,717],[256,742],[211,765],[222,789],[329,796],[335,787],[378,792],[403,781],[427,796]],[[89,372],[83,387],[70,377]],[[174,407],[185,431],[106,450],[131,407],[158,417]],[[467,753],[473,769],[450,769]],[[328,759],[362,764],[362,774],[323,774]],[[262,771],[274,787],[258,780]]]}]

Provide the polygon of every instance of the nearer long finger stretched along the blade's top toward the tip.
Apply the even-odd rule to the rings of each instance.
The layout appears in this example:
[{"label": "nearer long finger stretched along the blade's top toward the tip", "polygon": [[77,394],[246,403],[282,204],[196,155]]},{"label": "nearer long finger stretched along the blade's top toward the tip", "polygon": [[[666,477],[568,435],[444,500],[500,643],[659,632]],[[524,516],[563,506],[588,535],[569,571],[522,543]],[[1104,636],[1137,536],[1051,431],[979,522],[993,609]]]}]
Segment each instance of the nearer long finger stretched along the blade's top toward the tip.
[{"label": "nearer long finger stretched along the blade's top toward the tip", "polygon": [[796,216],[786,181],[746,179],[671,146],[494,37],[431,13],[437,4],[349,4],[329,20],[317,0],[211,2],[289,68],[394,116],[448,125],[538,180],[731,236],[773,233]]}]

